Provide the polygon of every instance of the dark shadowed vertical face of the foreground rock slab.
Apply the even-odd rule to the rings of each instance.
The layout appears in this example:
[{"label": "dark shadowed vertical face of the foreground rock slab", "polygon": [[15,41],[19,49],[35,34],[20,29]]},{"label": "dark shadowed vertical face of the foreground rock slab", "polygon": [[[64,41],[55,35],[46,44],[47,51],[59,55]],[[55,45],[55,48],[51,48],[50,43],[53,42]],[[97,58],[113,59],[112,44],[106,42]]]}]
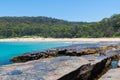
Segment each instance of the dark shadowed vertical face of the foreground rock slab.
[{"label": "dark shadowed vertical face of the foreground rock slab", "polygon": [[109,58],[103,59],[102,61],[93,65],[83,65],[58,80],[96,80],[110,69],[111,62],[112,60],[116,59],[116,56],[119,55],[114,55]]}]

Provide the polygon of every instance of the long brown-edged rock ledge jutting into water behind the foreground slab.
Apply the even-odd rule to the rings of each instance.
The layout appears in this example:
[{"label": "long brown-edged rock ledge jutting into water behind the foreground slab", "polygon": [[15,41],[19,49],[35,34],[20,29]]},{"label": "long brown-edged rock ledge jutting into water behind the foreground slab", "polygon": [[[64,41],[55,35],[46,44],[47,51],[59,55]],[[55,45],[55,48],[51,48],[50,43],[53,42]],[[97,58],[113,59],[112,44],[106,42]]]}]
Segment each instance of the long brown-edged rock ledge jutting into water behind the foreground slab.
[{"label": "long brown-edged rock ledge jutting into water behind the foreground slab", "polygon": [[79,45],[77,46],[68,46],[64,48],[54,48],[44,51],[35,51],[24,53],[20,56],[12,58],[11,62],[27,62],[31,60],[56,57],[56,56],[82,56],[82,55],[105,55],[112,56],[114,54],[120,53],[120,46],[102,46],[102,47],[89,47],[82,48]]}]

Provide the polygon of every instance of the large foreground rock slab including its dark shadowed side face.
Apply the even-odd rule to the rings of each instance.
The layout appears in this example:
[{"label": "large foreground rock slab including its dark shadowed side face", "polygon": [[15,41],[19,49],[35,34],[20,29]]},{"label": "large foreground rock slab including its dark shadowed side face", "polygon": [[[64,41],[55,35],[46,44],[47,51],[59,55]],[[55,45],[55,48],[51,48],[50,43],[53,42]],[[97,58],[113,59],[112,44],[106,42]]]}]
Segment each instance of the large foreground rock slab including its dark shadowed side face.
[{"label": "large foreground rock slab including its dark shadowed side face", "polygon": [[116,56],[61,56],[15,63],[0,67],[0,80],[96,80]]}]

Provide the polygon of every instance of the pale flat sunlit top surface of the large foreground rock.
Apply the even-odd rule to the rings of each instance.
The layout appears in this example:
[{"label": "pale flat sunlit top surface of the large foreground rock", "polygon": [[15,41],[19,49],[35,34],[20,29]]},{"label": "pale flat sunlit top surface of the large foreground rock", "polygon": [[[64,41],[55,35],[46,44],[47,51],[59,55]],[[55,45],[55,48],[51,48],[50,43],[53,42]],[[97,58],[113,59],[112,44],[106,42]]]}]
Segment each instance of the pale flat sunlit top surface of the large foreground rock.
[{"label": "pale flat sunlit top surface of the large foreground rock", "polygon": [[95,64],[104,59],[86,58],[61,56],[1,66],[0,80],[57,80],[84,64]]}]

